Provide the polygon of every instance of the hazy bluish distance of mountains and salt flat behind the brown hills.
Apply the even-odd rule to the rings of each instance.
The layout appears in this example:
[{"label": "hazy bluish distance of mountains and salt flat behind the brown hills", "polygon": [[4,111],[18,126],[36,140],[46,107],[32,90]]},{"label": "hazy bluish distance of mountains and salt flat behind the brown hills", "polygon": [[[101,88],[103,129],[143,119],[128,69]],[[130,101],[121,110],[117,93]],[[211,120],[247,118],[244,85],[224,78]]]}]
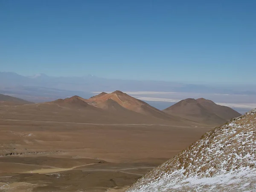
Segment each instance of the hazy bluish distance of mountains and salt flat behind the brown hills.
[{"label": "hazy bluish distance of mountains and salt flat behind the brown hills", "polygon": [[140,81],[107,79],[92,75],[82,77],[52,77],[47,75],[21,76],[17,73],[0,73],[0,93],[16,96],[31,102],[64,99],[73,95],[89,97],[103,91],[121,90],[136,99],[148,102],[163,110],[187,98],[210,99],[240,113],[256,108],[256,85],[193,84],[171,81]]}]

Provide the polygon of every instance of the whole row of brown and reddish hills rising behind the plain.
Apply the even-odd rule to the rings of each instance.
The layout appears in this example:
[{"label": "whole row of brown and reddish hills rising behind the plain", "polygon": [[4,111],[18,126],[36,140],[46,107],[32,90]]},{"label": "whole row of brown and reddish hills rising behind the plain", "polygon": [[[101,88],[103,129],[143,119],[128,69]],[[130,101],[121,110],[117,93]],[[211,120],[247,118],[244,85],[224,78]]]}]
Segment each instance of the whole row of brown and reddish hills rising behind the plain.
[{"label": "whole row of brown and reddish hills rising behind the plain", "polygon": [[[5,95],[0,95],[0,103],[5,105],[32,104],[31,102]],[[185,99],[166,110],[160,111],[148,105],[148,103],[135,99],[119,90],[113,93],[102,92],[89,99],[84,99],[80,96],[72,96],[66,99],[57,99],[52,102],[39,103],[38,105],[31,106],[38,108],[39,105],[44,106],[44,108],[47,107],[47,109],[52,108],[53,111],[55,109],[59,110],[65,108],[67,114],[74,114],[74,110],[79,110],[83,111],[84,114],[93,113],[96,116],[102,116],[107,112],[108,114],[105,114],[105,116],[111,116],[111,119],[144,119],[143,121],[147,122],[152,120],[147,119],[151,117],[153,119],[162,119],[172,122],[173,124],[184,125],[220,125],[231,118],[241,115],[231,108],[216,105],[214,102],[203,98],[197,100]],[[29,110],[31,106],[28,105],[27,110]],[[41,110],[44,108],[41,108]],[[69,110],[71,111],[68,112]]]}]

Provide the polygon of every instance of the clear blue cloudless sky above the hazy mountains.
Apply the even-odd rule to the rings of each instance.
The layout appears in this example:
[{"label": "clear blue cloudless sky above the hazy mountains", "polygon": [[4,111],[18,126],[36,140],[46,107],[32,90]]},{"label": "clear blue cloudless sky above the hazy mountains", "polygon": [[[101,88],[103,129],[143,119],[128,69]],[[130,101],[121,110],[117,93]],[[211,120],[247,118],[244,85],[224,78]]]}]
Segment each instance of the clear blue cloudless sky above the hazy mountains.
[{"label": "clear blue cloudless sky above the hazy mountains", "polygon": [[256,82],[256,0],[0,0],[0,71]]}]

